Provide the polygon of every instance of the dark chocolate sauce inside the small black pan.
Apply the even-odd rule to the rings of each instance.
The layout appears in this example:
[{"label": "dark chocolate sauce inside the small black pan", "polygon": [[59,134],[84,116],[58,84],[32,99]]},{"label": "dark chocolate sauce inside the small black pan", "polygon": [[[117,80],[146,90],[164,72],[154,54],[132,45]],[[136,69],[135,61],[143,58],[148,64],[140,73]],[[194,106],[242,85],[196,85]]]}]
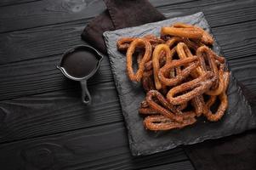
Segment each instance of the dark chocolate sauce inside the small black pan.
[{"label": "dark chocolate sauce inside the small black pan", "polygon": [[94,52],[76,50],[66,54],[61,66],[71,77],[87,77],[97,67],[99,60]]}]

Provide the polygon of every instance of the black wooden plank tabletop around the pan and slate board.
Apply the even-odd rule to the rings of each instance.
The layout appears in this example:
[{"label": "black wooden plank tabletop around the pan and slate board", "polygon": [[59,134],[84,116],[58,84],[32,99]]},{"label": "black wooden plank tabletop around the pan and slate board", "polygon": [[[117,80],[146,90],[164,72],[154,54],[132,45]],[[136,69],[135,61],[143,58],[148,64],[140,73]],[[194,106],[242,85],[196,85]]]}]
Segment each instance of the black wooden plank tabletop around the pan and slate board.
[{"label": "black wooden plank tabletop around the pan and slate board", "polygon": [[[254,0],[151,3],[172,16],[204,12],[231,71],[256,94]],[[180,147],[131,156],[107,57],[88,82],[88,107],[79,84],[56,69],[104,9],[101,0],[1,0],[0,169],[194,169]]]}]

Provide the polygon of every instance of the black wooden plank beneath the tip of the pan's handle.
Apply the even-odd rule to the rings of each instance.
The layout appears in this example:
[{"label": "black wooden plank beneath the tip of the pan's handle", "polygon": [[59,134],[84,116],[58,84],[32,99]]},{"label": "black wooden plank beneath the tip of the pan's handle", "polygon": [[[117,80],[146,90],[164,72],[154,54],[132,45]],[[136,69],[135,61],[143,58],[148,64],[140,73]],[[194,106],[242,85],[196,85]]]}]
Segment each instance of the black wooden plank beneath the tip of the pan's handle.
[{"label": "black wooden plank beneath the tip of the pan's handle", "polygon": [[38,94],[0,103],[0,143],[122,122],[113,82],[88,88],[93,103],[81,102],[81,90]]}]

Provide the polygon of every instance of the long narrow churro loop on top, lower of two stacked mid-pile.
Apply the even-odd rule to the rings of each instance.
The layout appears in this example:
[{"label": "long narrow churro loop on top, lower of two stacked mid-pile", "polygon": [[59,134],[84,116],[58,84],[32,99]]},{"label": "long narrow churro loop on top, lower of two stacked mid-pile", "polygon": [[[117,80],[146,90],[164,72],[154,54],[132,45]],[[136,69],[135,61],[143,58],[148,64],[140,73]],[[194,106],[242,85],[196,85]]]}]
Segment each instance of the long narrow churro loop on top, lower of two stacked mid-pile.
[{"label": "long narrow churro loop on top, lower of two stacked mid-pile", "polygon": [[[172,105],[180,105],[195,98],[196,96],[202,95],[212,86],[215,79],[216,77],[213,77],[213,73],[208,71],[190,82],[185,82],[176,86],[168,92],[168,102]],[[190,92],[174,97],[175,94],[179,94],[190,89],[192,89]]]}]

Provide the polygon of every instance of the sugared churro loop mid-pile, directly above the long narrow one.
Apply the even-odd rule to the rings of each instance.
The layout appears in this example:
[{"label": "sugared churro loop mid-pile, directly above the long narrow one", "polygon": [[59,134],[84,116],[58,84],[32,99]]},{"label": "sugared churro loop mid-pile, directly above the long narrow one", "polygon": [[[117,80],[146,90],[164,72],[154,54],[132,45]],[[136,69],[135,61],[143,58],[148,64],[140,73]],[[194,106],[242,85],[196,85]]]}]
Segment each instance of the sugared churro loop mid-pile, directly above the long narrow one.
[{"label": "sugared churro loop mid-pile, directly above the long narrow one", "polygon": [[[199,65],[199,62],[194,62],[198,58],[196,56],[185,58],[185,59],[179,59],[179,60],[173,60],[172,62],[168,63],[167,65],[164,65],[158,72],[158,78],[162,82],[162,84],[166,86],[174,86],[178,84],[179,82],[183,81],[186,77],[188,77],[191,74],[191,71],[196,69],[196,67]],[[183,71],[180,72],[179,75],[177,75],[174,78],[168,78],[166,75],[169,71],[174,69],[175,67],[181,66],[181,65],[191,65],[187,66]]]}]

